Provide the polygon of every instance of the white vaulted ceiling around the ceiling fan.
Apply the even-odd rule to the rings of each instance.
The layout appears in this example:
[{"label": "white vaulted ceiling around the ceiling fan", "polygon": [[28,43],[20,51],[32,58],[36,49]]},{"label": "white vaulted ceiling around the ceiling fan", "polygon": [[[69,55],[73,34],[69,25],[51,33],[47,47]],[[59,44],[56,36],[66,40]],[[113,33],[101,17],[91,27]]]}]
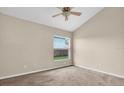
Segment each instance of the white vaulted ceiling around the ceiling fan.
[{"label": "white vaulted ceiling around the ceiling fan", "polygon": [[0,12],[24,20],[72,32],[102,9],[102,7],[75,7],[72,11],[82,12],[82,15],[79,17],[70,15],[68,21],[65,21],[62,15],[52,18],[53,15],[61,12],[61,10],[56,7],[4,7],[0,8]]}]

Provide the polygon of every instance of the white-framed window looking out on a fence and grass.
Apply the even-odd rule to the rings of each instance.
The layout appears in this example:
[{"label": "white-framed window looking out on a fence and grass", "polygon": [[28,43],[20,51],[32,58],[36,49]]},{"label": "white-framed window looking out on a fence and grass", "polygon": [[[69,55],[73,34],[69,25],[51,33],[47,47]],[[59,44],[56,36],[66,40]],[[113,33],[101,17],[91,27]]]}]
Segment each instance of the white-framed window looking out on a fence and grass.
[{"label": "white-framed window looking out on a fence and grass", "polygon": [[70,59],[70,38],[54,36],[54,60]]}]

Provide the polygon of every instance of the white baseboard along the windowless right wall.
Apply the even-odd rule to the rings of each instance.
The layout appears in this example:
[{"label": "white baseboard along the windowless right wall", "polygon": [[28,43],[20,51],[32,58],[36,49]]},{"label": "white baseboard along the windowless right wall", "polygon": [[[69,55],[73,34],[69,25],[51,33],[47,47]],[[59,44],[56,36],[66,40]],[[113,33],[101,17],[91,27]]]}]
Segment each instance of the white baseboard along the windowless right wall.
[{"label": "white baseboard along the windowless right wall", "polygon": [[95,72],[99,72],[99,73],[103,73],[103,74],[106,74],[106,75],[110,75],[110,76],[114,76],[114,77],[118,77],[118,78],[124,79],[124,76],[121,76],[121,75],[117,75],[117,74],[113,74],[113,73],[108,73],[108,72],[104,72],[104,71],[101,71],[101,70],[98,70],[98,69],[89,68],[89,67],[85,67],[85,66],[79,66],[79,65],[75,65],[75,66],[76,67],[80,67],[80,68],[84,68],[84,69],[87,69],[87,70],[91,70],[91,71],[95,71]]}]

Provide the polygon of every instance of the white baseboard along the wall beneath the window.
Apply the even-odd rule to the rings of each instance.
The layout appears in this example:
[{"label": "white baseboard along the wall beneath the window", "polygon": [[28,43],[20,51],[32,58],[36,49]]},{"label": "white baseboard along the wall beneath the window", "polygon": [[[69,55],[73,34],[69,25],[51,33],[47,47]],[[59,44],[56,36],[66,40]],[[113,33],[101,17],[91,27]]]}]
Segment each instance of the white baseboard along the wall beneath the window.
[{"label": "white baseboard along the wall beneath the window", "polygon": [[54,68],[48,68],[48,69],[42,69],[42,70],[35,70],[35,71],[30,71],[30,72],[20,73],[20,74],[14,74],[14,75],[9,75],[9,76],[3,76],[3,77],[0,77],[0,80],[13,78],[13,77],[17,77],[17,76],[22,76],[22,75],[33,74],[33,73],[37,73],[37,72],[41,72],[41,71],[48,71],[48,70],[53,70],[53,69],[57,69],[57,68],[68,67],[68,66],[72,66],[72,65],[60,66],[60,67],[54,67]]}]

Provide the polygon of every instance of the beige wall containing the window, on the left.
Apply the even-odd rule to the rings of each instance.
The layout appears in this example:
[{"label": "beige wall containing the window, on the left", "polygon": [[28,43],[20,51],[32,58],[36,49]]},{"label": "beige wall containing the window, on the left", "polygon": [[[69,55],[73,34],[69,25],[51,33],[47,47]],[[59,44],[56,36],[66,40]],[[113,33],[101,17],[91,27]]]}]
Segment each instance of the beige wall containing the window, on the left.
[{"label": "beige wall containing the window, on the left", "polygon": [[68,66],[53,61],[53,35],[71,33],[0,14],[0,78]]}]

